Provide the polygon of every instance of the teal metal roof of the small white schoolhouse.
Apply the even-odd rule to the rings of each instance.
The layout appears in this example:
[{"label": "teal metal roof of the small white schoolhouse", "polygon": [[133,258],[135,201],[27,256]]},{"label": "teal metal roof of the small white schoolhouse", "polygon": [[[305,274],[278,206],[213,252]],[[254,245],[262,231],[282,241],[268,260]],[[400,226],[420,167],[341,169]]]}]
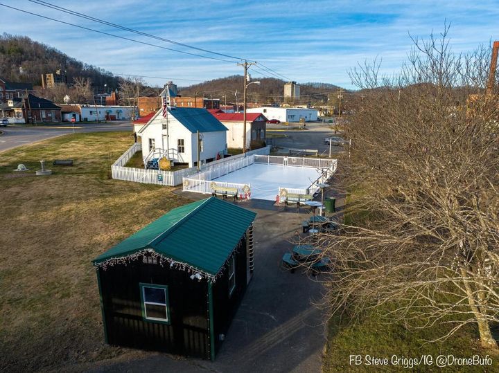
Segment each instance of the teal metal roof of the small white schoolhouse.
[{"label": "teal metal roof of the small white schoolhouse", "polygon": [[192,107],[177,107],[168,109],[168,114],[171,114],[179,122],[189,129],[191,133],[227,131],[227,127],[222,125],[220,120],[207,111],[207,109],[196,109]]}]

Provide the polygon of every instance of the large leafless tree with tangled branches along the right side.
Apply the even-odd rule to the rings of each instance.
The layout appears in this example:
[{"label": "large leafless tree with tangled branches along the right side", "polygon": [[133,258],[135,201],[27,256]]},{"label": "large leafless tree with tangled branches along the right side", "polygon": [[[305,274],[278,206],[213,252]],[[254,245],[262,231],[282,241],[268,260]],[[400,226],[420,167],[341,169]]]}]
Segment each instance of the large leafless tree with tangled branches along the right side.
[{"label": "large leafless tree with tangled branches along the right side", "polygon": [[358,192],[342,235],[321,237],[332,260],[326,299],[333,312],[377,309],[408,327],[448,326],[439,339],[478,325],[482,346],[497,349],[499,106],[497,95],[484,95],[490,48],[456,55],[448,27],[413,41],[397,76],[380,76],[377,62],[351,71],[364,90],[347,126],[344,183]]}]

